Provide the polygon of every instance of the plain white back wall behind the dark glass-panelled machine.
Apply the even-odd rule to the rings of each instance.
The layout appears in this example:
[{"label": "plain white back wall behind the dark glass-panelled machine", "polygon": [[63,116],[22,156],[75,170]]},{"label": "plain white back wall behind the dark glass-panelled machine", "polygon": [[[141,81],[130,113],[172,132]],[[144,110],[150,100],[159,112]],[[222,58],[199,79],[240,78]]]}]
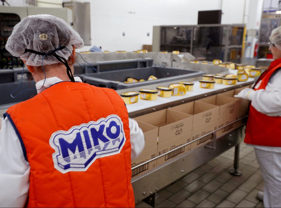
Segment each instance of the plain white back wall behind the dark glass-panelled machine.
[{"label": "plain white back wall behind the dark glass-panelled machine", "polygon": [[[88,1],[92,46],[101,46],[102,50],[109,51],[134,51],[142,49],[143,44],[152,44],[153,25],[196,25],[198,11],[218,9],[223,12],[222,24],[246,23],[250,1],[260,0]],[[85,46],[79,51],[90,48]]]}]

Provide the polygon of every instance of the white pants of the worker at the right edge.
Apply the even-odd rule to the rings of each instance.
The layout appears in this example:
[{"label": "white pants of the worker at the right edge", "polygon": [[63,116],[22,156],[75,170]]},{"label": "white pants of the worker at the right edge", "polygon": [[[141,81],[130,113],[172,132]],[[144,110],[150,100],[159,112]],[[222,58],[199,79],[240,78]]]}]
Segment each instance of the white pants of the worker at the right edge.
[{"label": "white pants of the worker at the right edge", "polygon": [[281,153],[255,152],[264,178],[264,207],[281,207]]}]

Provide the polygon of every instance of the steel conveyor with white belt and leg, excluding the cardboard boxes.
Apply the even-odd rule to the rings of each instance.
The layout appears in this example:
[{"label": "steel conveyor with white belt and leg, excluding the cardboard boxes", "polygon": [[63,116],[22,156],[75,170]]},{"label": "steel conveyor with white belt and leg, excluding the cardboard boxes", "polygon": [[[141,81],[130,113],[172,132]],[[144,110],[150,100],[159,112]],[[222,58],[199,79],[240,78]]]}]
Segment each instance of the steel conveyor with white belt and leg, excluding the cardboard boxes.
[{"label": "steel conveyor with white belt and leg, excluding the cardboard boxes", "polygon": [[[254,78],[250,78],[246,82],[238,83],[238,85],[215,85],[214,89],[200,89],[198,79],[201,77],[195,77],[191,79],[179,79],[176,81],[170,81],[161,83],[161,86],[168,86],[171,83],[177,83],[178,81],[192,81],[194,82],[194,89],[192,92],[187,92],[184,96],[174,96],[170,98],[158,98],[156,101],[140,100],[136,104],[127,105],[129,117],[136,118],[140,115],[146,115],[152,112],[160,111],[162,109],[173,108],[174,106],[180,106],[184,103],[190,103],[205,97],[211,97],[214,95],[231,95],[233,90],[243,87],[249,87],[254,83]],[[155,89],[159,84],[142,86],[142,88]],[[127,91],[137,91],[139,87],[117,90],[118,93]],[[229,94],[227,94],[229,93]],[[154,102],[154,103],[153,103]],[[196,104],[195,104],[196,105]],[[245,109],[244,109],[245,110]],[[147,160],[141,164],[132,167],[132,171],[143,168],[145,164],[149,164],[159,158],[167,158],[167,156],[173,156],[167,162],[153,168],[145,174],[140,174],[132,178],[132,186],[134,189],[135,202],[141,200],[154,206],[155,193],[160,189],[170,185],[171,183],[184,177],[192,170],[199,166],[209,162],[213,158],[219,156],[221,153],[235,146],[234,167],[231,171],[233,175],[240,175],[238,171],[239,161],[239,144],[244,138],[244,128],[246,124],[247,116],[244,114],[238,119],[220,126],[214,131],[208,132],[205,135],[200,136],[195,140],[178,146],[164,154],[158,155],[155,158]],[[216,136],[219,135],[219,136]],[[183,147],[188,147],[191,143],[196,143],[204,138],[211,138],[207,143],[198,146],[197,148],[183,152],[177,155],[179,150]],[[164,159],[163,159],[164,160]]]}]

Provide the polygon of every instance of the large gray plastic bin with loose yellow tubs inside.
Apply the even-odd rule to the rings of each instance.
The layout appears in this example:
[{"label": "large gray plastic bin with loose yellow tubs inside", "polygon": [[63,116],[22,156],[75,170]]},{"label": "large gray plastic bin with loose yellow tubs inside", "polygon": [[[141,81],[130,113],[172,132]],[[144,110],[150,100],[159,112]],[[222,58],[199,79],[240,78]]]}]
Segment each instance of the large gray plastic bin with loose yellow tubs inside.
[{"label": "large gray plastic bin with loose yellow tubs inside", "polygon": [[[203,71],[192,71],[176,68],[164,68],[158,66],[134,68],[125,70],[116,70],[111,72],[100,72],[99,74],[81,74],[80,77],[83,82],[97,87],[107,87],[114,90],[125,89],[130,87],[138,87],[143,85],[156,84],[161,82],[173,81],[178,79],[186,79],[205,74]],[[147,80],[149,76],[157,77],[156,80],[129,83],[126,84],[127,77],[135,79]]]}]

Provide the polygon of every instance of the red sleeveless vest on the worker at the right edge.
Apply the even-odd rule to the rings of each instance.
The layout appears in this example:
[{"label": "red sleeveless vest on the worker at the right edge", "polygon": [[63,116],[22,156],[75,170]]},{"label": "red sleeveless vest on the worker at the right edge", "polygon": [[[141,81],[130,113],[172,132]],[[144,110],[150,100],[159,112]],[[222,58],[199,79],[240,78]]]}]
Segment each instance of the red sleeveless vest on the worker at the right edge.
[{"label": "red sleeveless vest on the worker at the right edge", "polygon": [[[281,68],[280,61],[281,59],[272,62],[269,69],[256,82],[254,90],[266,88],[271,75]],[[250,105],[244,142],[260,146],[281,147],[279,135],[281,135],[281,117],[265,115]]]}]

